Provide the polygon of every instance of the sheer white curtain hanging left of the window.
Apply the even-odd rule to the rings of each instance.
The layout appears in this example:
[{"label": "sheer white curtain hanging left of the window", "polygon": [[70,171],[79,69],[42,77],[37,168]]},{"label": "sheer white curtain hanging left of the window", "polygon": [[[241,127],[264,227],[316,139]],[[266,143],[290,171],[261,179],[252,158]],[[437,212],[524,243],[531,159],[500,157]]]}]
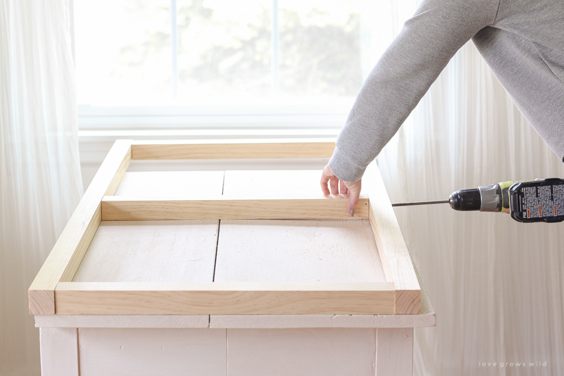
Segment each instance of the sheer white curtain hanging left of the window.
[{"label": "sheer white curtain hanging left of the window", "polygon": [[83,194],[66,0],[0,0],[0,375],[39,375],[28,294]]}]

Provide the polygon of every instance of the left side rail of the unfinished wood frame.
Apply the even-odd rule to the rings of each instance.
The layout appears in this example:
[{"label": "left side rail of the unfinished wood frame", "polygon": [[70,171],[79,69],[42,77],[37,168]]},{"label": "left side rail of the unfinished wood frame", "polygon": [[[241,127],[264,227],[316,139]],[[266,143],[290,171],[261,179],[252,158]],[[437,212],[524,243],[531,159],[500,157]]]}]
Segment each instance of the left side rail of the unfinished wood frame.
[{"label": "left side rail of the unfinished wood frame", "polygon": [[61,280],[72,280],[100,223],[100,200],[111,184],[117,187],[129,161],[131,141],[116,141],[30,286],[30,313],[55,313],[54,289]]}]

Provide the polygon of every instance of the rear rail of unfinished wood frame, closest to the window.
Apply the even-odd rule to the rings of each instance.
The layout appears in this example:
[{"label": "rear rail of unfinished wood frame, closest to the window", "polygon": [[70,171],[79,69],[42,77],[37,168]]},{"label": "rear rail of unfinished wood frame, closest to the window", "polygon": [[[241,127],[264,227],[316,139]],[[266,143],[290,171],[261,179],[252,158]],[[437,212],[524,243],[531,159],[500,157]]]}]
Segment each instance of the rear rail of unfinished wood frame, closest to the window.
[{"label": "rear rail of unfinished wood frame, closest to the window", "polygon": [[334,138],[133,142],[133,159],[329,158]]}]

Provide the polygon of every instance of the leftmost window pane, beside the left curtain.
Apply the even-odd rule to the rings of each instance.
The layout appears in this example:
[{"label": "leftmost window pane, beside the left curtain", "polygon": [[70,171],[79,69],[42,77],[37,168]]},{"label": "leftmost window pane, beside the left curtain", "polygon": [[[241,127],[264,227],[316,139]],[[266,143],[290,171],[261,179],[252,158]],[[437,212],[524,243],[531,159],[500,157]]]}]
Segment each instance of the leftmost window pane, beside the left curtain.
[{"label": "leftmost window pane, beside the left curtain", "polygon": [[78,103],[171,99],[169,0],[75,0]]}]

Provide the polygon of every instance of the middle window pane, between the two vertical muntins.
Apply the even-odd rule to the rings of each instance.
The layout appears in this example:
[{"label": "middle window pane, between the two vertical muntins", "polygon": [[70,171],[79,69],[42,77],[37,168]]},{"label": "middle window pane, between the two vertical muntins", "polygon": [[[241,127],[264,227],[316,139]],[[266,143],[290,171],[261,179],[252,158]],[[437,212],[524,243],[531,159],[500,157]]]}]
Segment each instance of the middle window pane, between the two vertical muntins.
[{"label": "middle window pane, between the two vertical muntins", "polygon": [[270,94],[272,0],[178,0],[179,98]]}]

